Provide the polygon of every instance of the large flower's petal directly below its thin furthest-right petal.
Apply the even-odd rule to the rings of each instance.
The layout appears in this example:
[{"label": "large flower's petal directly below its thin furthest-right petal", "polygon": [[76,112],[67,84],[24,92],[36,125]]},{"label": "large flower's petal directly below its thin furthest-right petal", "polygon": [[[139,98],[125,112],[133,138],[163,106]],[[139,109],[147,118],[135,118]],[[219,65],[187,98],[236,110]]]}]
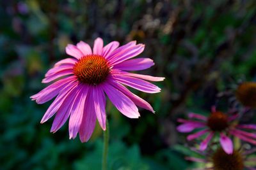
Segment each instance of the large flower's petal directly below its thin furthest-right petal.
[{"label": "large flower's petal directly below its thin furthest-right petal", "polygon": [[123,75],[115,75],[113,76],[113,78],[119,83],[132,87],[134,89],[140,90],[142,92],[153,94],[153,93],[158,93],[161,90],[156,85],[153,85],[152,83],[148,83],[148,81],[140,80],[138,78],[123,76]]}]

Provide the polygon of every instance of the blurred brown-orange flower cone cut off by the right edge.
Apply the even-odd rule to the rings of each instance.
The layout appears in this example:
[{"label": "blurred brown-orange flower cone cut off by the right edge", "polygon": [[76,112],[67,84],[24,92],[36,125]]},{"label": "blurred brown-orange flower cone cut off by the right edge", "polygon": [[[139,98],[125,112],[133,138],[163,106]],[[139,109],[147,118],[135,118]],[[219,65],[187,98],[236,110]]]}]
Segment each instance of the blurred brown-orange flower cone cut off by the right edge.
[{"label": "blurred brown-orange flower cone cut off by the right edge", "polygon": [[236,97],[244,106],[256,108],[256,83],[241,83],[236,89]]}]

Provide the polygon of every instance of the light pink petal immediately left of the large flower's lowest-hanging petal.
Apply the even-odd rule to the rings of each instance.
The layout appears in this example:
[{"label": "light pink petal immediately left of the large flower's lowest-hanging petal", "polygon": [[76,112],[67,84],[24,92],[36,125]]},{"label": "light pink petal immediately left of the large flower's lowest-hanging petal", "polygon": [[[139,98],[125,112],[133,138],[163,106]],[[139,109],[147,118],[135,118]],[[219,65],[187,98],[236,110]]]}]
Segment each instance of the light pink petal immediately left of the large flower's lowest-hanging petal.
[{"label": "light pink petal immediately left of the large flower's lowest-hanging petal", "polygon": [[70,118],[68,122],[68,129],[69,129],[69,139],[75,139],[77,136],[77,132],[80,129],[83,113],[84,113],[84,103],[88,92],[87,85],[81,85],[78,95],[76,99],[74,99],[74,106],[70,112]]}]

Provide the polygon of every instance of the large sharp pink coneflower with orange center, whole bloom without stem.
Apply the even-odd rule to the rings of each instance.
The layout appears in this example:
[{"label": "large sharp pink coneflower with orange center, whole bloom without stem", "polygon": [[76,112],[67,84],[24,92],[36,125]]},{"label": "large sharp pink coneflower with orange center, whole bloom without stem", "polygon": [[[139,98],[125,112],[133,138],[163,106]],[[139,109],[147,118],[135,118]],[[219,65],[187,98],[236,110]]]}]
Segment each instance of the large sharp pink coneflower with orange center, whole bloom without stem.
[{"label": "large sharp pink coneflower with orange center, whole bloom without stem", "polygon": [[[103,46],[101,38],[94,41],[93,50],[83,41],[77,45],[67,45],[66,52],[74,58],[57,62],[46,74],[42,83],[58,80],[38,94],[31,96],[42,104],[57,96],[49,106],[41,123],[55,113],[51,132],[56,132],[69,119],[69,136],[82,142],[88,141],[95,127],[96,117],[106,130],[106,96],[126,117],[138,118],[137,106],[154,112],[150,104],[132,94],[124,85],[147,93],[157,93],[161,89],[148,81],[163,81],[162,77],[129,73],[147,69],[154,65],[148,58],[132,59],[143,52],[145,45],[131,41],[119,46],[113,41]],[[137,106],[136,106],[137,105]]]}]

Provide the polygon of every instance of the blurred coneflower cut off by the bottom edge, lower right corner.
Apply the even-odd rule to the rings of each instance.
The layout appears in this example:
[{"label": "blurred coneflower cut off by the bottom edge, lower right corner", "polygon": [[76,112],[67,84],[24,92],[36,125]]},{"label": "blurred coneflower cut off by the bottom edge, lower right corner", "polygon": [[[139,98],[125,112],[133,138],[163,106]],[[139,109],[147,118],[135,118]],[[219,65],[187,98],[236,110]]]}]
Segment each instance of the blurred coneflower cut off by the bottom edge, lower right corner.
[{"label": "blurred coneflower cut off by the bottom edge, lower right corner", "polygon": [[204,163],[205,167],[193,170],[255,170],[252,166],[252,162],[255,162],[255,157],[250,157],[250,154],[255,151],[255,148],[252,150],[240,148],[239,150],[234,150],[231,154],[227,154],[222,148],[217,148],[216,151],[211,150],[211,153],[198,152],[203,158],[186,157],[186,159]]}]

